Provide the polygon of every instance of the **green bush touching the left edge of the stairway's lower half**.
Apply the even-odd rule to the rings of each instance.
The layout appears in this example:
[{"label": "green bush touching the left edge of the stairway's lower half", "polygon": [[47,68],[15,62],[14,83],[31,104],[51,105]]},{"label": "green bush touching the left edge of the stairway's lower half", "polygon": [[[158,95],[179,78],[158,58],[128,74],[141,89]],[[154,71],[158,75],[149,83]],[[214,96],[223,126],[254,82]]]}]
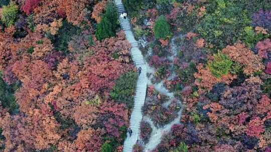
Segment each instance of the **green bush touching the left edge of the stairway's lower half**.
[{"label": "green bush touching the left edge of the stairway's lower half", "polygon": [[113,100],[124,102],[132,107],[132,99],[137,82],[137,72],[127,72],[121,75],[113,86],[110,96]]}]

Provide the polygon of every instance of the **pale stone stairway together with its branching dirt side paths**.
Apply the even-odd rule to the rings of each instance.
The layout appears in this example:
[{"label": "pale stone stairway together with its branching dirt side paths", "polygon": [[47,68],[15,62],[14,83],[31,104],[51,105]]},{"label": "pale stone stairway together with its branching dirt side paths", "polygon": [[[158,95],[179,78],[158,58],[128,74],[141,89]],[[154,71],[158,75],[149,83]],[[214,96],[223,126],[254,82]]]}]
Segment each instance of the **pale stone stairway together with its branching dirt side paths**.
[{"label": "pale stone stairway together with its branching dirt side paths", "polygon": [[[121,0],[114,0],[115,5],[117,7],[118,14],[120,15],[121,12],[125,12],[124,5],[122,4]],[[164,80],[158,83],[152,83],[151,79],[154,77],[155,69],[150,67],[148,63],[145,63],[144,56],[142,55],[140,49],[139,49],[139,43],[137,40],[135,40],[131,25],[129,22],[129,19],[123,19],[119,18],[121,28],[124,30],[126,39],[131,43],[131,57],[135,64],[135,66],[142,67],[142,73],[140,74],[138,80],[137,80],[137,88],[135,90],[135,96],[134,96],[134,106],[132,109],[131,117],[130,117],[130,124],[129,127],[132,129],[132,135],[129,137],[126,136],[126,139],[124,141],[123,145],[123,152],[132,152],[133,145],[139,141],[142,143],[142,139],[140,138],[140,124],[141,121],[147,121],[151,124],[151,127],[153,129],[151,133],[151,137],[148,143],[142,144],[144,146],[144,151],[149,152],[152,151],[160,142],[162,139],[162,136],[168,133],[171,130],[172,125],[180,123],[180,118],[182,115],[182,108],[180,111],[177,112],[177,117],[172,120],[170,123],[160,127],[155,126],[153,120],[148,115],[143,116],[142,107],[144,106],[145,98],[146,98],[146,90],[147,90],[147,84],[154,85],[155,89],[158,90],[161,94],[169,96],[169,101],[167,104],[171,103],[173,99],[175,99],[174,94],[172,92],[169,92],[168,89],[163,85]],[[170,56],[170,60],[173,60],[174,56],[176,56],[177,53],[173,52],[173,55]],[[151,75],[147,77],[147,71]],[[168,79],[172,79],[175,76],[175,72],[171,74],[171,76]]]}]

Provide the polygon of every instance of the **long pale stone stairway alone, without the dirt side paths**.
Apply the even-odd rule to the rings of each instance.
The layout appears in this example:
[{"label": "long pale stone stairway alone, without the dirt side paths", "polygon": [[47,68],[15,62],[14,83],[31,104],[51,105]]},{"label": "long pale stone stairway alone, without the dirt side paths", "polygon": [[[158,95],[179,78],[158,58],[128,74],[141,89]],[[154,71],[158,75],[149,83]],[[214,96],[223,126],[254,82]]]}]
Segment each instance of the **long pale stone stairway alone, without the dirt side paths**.
[{"label": "long pale stone stairway alone, without the dirt side paths", "polygon": [[[124,12],[124,5],[122,4],[121,0],[114,0],[118,14]],[[131,31],[131,25],[129,19],[120,19],[121,28],[124,30],[126,39],[131,43],[131,57],[132,60],[137,66],[137,68],[141,67],[142,72],[137,81],[137,88],[135,90],[134,96],[134,106],[132,109],[131,117],[130,117],[130,128],[132,129],[131,137],[127,136],[124,145],[123,145],[123,152],[131,152],[133,145],[137,142],[140,135],[140,122],[143,117],[142,107],[145,102],[146,97],[146,89],[147,89],[147,67],[145,64],[144,57],[138,47],[138,41],[134,39],[133,33]]]}]

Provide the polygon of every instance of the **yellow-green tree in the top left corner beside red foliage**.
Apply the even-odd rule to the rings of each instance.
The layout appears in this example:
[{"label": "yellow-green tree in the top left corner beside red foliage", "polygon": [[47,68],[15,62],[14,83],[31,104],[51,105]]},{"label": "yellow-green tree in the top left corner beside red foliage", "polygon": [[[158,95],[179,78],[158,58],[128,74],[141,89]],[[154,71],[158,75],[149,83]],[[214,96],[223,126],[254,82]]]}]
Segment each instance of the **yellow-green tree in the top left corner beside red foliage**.
[{"label": "yellow-green tree in the top left corner beside red foliage", "polygon": [[2,8],[2,21],[3,23],[5,23],[6,26],[10,26],[13,25],[17,19],[17,13],[19,11],[18,6],[11,2],[9,5],[7,6],[3,6]]}]

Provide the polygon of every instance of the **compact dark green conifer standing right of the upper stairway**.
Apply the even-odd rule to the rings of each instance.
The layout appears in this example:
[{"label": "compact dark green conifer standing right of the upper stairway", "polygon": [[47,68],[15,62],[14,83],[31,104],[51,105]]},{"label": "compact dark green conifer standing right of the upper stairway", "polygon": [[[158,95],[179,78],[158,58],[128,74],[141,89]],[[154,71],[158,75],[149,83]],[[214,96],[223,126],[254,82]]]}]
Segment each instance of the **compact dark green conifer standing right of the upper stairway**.
[{"label": "compact dark green conifer standing right of the upper stairway", "polygon": [[157,39],[167,38],[172,33],[170,31],[170,25],[164,15],[161,15],[155,22],[154,35]]}]

